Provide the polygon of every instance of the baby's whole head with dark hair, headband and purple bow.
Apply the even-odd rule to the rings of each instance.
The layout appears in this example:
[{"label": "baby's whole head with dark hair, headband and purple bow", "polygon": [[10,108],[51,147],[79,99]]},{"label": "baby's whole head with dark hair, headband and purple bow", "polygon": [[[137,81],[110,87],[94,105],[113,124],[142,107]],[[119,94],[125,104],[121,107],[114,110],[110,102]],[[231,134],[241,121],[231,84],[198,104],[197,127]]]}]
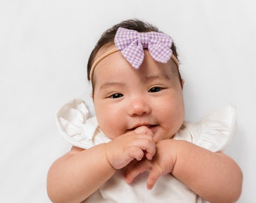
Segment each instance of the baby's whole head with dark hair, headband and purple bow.
[{"label": "baby's whole head with dark hair, headband and purple bow", "polygon": [[[132,56],[129,50],[125,55],[122,43],[126,44],[127,39],[123,36],[130,38],[137,32],[143,32],[138,34],[142,49],[133,50]],[[148,34],[154,35],[151,41],[158,44],[154,45],[158,46],[155,50],[150,47]],[[135,47],[140,44],[133,43]],[[99,127],[108,138],[147,126],[154,140],[160,141],[171,138],[180,129],[184,103],[177,53],[172,39],[156,27],[127,20],[108,29],[90,55],[87,73],[93,84]]]}]

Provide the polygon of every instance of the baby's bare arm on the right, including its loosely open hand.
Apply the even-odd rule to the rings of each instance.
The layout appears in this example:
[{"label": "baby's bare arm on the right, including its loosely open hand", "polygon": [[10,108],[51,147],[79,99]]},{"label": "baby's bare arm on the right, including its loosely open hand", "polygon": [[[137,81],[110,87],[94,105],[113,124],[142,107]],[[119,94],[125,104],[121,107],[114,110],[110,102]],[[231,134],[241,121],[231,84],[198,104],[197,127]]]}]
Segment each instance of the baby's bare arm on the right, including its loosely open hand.
[{"label": "baby's bare arm on the right, including its loosely open hand", "polygon": [[130,166],[126,181],[130,183],[147,170],[151,170],[147,183],[149,189],[160,175],[172,173],[210,202],[234,202],[242,190],[242,171],[233,159],[187,141],[170,139],[158,142],[154,159],[138,162],[136,167]]}]

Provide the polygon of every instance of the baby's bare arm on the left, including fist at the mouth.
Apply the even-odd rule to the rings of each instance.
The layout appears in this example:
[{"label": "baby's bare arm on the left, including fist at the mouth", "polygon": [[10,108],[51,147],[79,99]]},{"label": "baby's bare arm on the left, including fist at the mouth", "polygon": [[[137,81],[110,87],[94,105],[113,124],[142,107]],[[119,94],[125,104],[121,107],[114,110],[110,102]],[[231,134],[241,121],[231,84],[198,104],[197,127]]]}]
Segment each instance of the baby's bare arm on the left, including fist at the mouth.
[{"label": "baby's bare arm on the left, including fist at the mouth", "polygon": [[88,150],[72,147],[50,167],[47,192],[53,202],[81,202],[133,159],[156,152],[152,132],[140,127]]}]

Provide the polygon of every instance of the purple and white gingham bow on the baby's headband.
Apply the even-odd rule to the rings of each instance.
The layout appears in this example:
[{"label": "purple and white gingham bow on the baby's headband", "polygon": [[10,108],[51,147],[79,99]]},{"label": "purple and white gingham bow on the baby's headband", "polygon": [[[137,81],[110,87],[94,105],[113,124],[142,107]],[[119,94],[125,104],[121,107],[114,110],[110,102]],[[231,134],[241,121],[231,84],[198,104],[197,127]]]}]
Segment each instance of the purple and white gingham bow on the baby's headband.
[{"label": "purple and white gingham bow on the baby's headband", "polygon": [[136,69],[142,65],[145,48],[157,62],[166,63],[172,56],[172,38],[160,32],[137,32],[120,27],[114,37],[114,44]]}]

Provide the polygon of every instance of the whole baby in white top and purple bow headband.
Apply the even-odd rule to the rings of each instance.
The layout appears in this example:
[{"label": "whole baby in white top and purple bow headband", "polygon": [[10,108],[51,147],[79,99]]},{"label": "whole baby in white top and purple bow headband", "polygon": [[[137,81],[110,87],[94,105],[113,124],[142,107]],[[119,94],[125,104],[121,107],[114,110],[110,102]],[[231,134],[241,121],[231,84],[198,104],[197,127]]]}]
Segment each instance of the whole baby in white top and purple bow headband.
[{"label": "whole baby in white top and purple bow headband", "polygon": [[234,108],[184,122],[172,38],[140,20],[103,33],[90,55],[96,117],[74,100],[57,118],[72,149],[50,167],[53,202],[233,202],[242,172],[221,153]]}]

